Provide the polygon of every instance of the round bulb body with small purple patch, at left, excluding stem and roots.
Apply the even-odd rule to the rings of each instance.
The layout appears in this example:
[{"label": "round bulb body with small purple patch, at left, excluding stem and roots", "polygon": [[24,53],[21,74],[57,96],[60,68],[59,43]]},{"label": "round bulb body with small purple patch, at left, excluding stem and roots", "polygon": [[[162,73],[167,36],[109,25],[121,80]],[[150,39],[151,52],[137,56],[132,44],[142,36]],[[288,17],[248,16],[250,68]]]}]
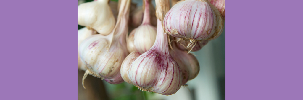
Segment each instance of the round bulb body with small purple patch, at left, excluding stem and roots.
[{"label": "round bulb body with small purple patch, at left, excluding stem and roots", "polygon": [[80,45],[79,54],[81,60],[93,76],[105,79],[108,83],[119,84],[123,82],[120,74],[120,66],[128,52],[118,43],[111,47],[108,36],[93,35]]}]

